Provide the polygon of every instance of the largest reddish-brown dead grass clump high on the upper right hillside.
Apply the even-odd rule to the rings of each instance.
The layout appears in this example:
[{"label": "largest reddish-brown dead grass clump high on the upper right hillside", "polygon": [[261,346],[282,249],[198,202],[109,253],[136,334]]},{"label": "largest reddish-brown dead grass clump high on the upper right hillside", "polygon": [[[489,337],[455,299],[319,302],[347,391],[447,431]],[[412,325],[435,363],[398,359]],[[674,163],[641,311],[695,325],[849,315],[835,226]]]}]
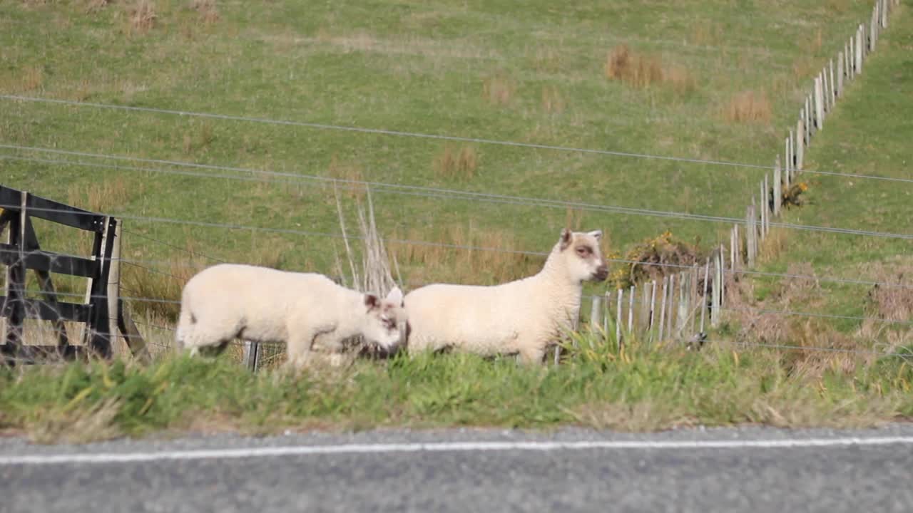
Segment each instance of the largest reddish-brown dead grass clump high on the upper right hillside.
[{"label": "largest reddish-brown dead grass clump high on the upper right hillside", "polygon": [[621,80],[636,89],[666,84],[677,92],[687,92],[697,85],[687,68],[666,66],[662,58],[636,53],[624,44],[609,52],[604,68],[608,79]]}]

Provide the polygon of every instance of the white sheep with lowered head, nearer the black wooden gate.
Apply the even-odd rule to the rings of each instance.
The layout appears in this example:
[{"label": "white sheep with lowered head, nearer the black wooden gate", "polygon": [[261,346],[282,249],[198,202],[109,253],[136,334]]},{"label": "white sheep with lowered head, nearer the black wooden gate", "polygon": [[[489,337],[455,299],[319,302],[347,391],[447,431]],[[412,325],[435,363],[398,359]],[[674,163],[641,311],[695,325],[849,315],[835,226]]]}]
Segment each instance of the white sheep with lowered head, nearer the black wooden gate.
[{"label": "white sheep with lowered head, nearer the black wooden gate", "polygon": [[286,342],[288,365],[301,367],[312,351],[338,355],[356,335],[394,348],[405,319],[399,288],[381,299],[316,273],[219,264],[184,285],[175,341],[191,354],[222,351],[235,338]]}]

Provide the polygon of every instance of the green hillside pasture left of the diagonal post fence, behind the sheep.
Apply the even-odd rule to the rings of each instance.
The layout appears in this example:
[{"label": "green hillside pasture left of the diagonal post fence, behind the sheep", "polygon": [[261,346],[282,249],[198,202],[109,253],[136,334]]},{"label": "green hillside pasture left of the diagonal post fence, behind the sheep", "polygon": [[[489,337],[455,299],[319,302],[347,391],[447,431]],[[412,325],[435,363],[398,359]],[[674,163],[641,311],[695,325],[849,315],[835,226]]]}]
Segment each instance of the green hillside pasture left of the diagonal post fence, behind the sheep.
[{"label": "green hillside pasture left of the diagonal post fence, behind the sheep", "polygon": [[[535,2],[414,5],[288,0],[216,2],[205,24],[189,2],[158,0],[146,33],[132,1],[0,6],[0,90],[49,98],[304,120],[398,131],[530,141],[737,162],[772,163],[813,70],[865,19],[868,2],[688,1],[637,5]],[[370,21],[369,21],[370,20]],[[797,23],[795,20],[802,20]],[[619,44],[677,67],[693,89],[607,79]],[[682,71],[683,70],[683,71]],[[505,89],[506,96],[486,95]],[[755,90],[770,120],[726,120],[730,99]],[[502,100],[503,99],[503,100]],[[548,100],[546,100],[548,99]],[[559,100],[560,99],[560,100]],[[0,101],[0,141],[85,152],[216,163],[596,204],[741,216],[759,173],[727,167],[471,144],[472,178],[436,171],[449,143],[303,127]],[[34,154],[33,154],[34,155]],[[89,160],[89,159],[79,159]],[[332,164],[331,162],[336,162]],[[338,232],[328,191],[76,166],[0,162],[5,184],[66,200],[120,176],[114,213]],[[161,167],[161,166],[159,166]],[[330,199],[328,199],[328,196]],[[377,194],[385,234],[449,242],[452,226],[502,230],[546,251],[565,212],[540,207]],[[77,203],[83,204],[81,200]],[[351,204],[347,204],[351,212]],[[331,239],[129,221],[133,230],[236,261],[278,253],[283,267],[331,271]],[[616,249],[670,229],[713,241],[719,225],[587,213]],[[48,236],[51,237],[52,236]],[[125,236],[125,254],[172,248]],[[410,285],[422,262],[404,262]],[[472,268],[462,281],[490,282]]]}]

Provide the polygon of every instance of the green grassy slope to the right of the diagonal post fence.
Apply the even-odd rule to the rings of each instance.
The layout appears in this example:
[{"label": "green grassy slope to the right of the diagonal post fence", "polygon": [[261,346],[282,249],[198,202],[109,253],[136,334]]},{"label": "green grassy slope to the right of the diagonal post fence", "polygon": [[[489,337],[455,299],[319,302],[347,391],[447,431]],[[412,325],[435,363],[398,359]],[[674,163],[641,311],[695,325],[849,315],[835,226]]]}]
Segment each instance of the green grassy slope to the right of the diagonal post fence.
[{"label": "green grassy slope to the right of the diagonal post fence", "polygon": [[[847,88],[844,99],[824,121],[807,153],[810,170],[858,173],[888,178],[913,178],[913,17],[910,4],[897,15],[878,40],[875,53],[866,60],[863,73]],[[909,234],[913,186],[852,177],[806,173],[810,184],[807,204],[789,212],[788,222],[802,225],[839,226],[875,232]],[[913,241],[879,236],[837,235],[793,231],[786,249],[771,258],[762,270],[782,272],[803,268],[803,274],[845,277],[910,284]],[[802,267],[797,267],[802,266]],[[763,283],[762,282],[767,282]],[[756,280],[757,290],[778,288],[769,280]],[[871,286],[820,283],[820,289],[792,303],[792,309],[855,317],[876,317],[901,322],[910,320],[913,288],[882,288],[890,297],[869,297]],[[894,305],[891,308],[890,304]],[[908,340],[909,324],[884,324],[854,319],[829,321],[845,334],[884,343],[888,349]],[[880,333],[878,331],[881,331]]]}]

